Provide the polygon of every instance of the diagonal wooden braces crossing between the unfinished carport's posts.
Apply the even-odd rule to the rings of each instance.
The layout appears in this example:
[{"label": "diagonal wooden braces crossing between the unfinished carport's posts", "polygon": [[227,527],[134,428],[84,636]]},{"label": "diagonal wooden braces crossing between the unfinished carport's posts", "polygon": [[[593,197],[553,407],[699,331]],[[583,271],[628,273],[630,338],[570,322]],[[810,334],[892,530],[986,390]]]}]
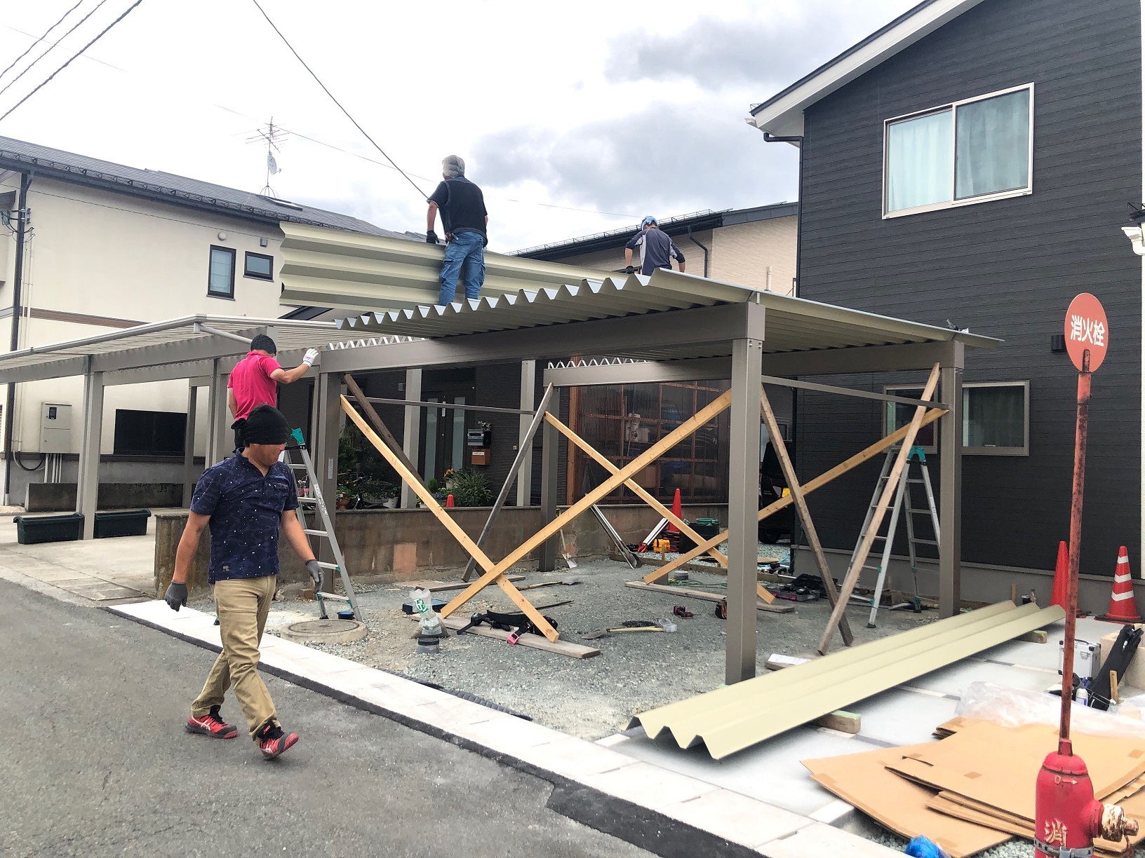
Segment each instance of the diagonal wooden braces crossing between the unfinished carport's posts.
[{"label": "diagonal wooden braces crossing between the unfinished carport's posts", "polygon": [[[353,378],[349,375],[345,376],[346,382],[357,399],[358,404],[362,406],[363,411],[370,419],[378,430],[386,436],[386,440],[379,437],[378,432],[366,424],[366,421],[361,414],[350,405],[349,400],[344,396],[341,397],[341,407],[346,412],[347,416],[354,421],[355,426],[362,430],[362,434],[366,439],[377,447],[378,452],[389,462],[389,464],[397,471],[397,474],[404,479],[413,492],[418,495],[421,502],[441,523],[444,525],[445,530],[465,548],[471,557],[469,566],[466,569],[466,579],[468,579],[469,573],[473,570],[474,563],[483,570],[481,577],[479,577],[473,583],[466,587],[461,593],[459,593],[448,605],[445,605],[441,613],[442,617],[449,617],[451,613],[457,611],[461,605],[476,596],[482,589],[484,589],[490,583],[496,583],[500,587],[505,594],[516,604],[521,611],[532,621],[532,623],[544,634],[550,641],[555,641],[558,638],[558,631],[552,627],[552,625],[537,611],[536,607],[521,594],[516,587],[514,587],[505,577],[505,573],[513,567],[514,564],[523,559],[530,551],[543,545],[546,540],[554,537],[560,532],[561,527],[575,519],[582,513],[589,510],[599,500],[618,488],[621,485],[627,486],[632,490],[637,496],[643,500],[648,506],[660,513],[664,518],[672,522],[680,531],[696,543],[696,547],[690,551],[681,554],[674,561],[657,567],[649,574],[645,575],[646,583],[653,583],[660,579],[665,578],[673,570],[680,567],[685,563],[695,559],[701,554],[710,554],[714,557],[720,565],[727,566],[727,556],[724,555],[717,546],[724,542],[728,538],[728,532],[713,537],[712,539],[703,539],[697,534],[684,519],[672,514],[668,507],[661,503],[655,496],[653,496],[648,491],[640,486],[633,477],[639,474],[643,468],[655,462],[664,453],[671,450],[673,446],[679,444],[681,440],[695,432],[700,427],[704,426],[720,413],[726,411],[732,403],[732,392],[726,391],[717,399],[712,400],[709,405],[703,407],[701,411],[696,412],[695,415],[689,418],[687,421],[681,423],[674,430],[665,435],[658,442],[653,444],[648,450],[638,455],[631,462],[625,464],[623,468],[617,468],[613,462],[608,461],[603,455],[597,452],[587,442],[581,438],[576,432],[574,432],[569,427],[564,426],[560,420],[558,420],[552,412],[547,411],[548,402],[552,396],[552,386],[545,390],[545,395],[542,399],[542,405],[537,410],[532,424],[529,428],[528,443],[531,444],[531,437],[540,426],[542,419],[548,422],[558,431],[564,435],[571,444],[575,444],[581,450],[583,450],[589,456],[591,456],[595,462],[598,462],[610,476],[601,483],[599,486],[593,488],[591,492],[585,494],[581,500],[564,510],[561,515],[556,516],[553,521],[548,522],[544,527],[532,534],[529,539],[518,546],[513,551],[511,551],[500,562],[495,563],[483,550],[482,545],[484,543],[489,532],[492,530],[492,524],[500,511],[505,499],[508,495],[510,486],[512,485],[516,472],[520,468],[519,462],[514,462],[513,468],[511,468],[508,477],[506,478],[505,485],[502,488],[500,494],[497,498],[497,502],[490,513],[489,519],[485,522],[485,526],[474,542],[469,537],[461,530],[461,527],[453,521],[453,518],[442,509],[441,505],[437,503],[436,499],[421,482],[420,476],[417,472],[417,468],[406,458],[401,446],[386,429],[385,423],[378,416],[373,406],[366,399],[365,395],[362,394],[361,388],[354,382]],[[939,365],[935,364],[931,371],[930,379],[926,382],[926,387],[923,390],[922,399],[929,400],[934,392],[939,379]],[[853,456],[844,462],[840,462],[830,470],[821,474],[806,484],[800,485],[796,478],[795,467],[791,463],[791,458],[788,454],[787,446],[783,444],[782,436],[780,434],[779,423],[775,420],[775,412],[772,410],[771,402],[767,399],[767,394],[760,384],[759,389],[759,407],[763,415],[764,422],[767,424],[767,431],[772,439],[772,444],[775,448],[775,454],[780,461],[780,468],[783,471],[783,477],[790,487],[790,494],[780,498],[779,500],[769,503],[759,510],[758,521],[763,521],[768,516],[777,513],[779,510],[795,503],[796,511],[799,515],[800,524],[803,525],[804,533],[807,537],[807,542],[811,547],[812,554],[815,557],[815,564],[819,567],[819,574],[823,580],[823,587],[827,591],[828,598],[832,605],[831,619],[827,625],[827,629],[823,633],[823,637],[819,644],[819,652],[822,654],[827,653],[830,645],[831,637],[834,636],[834,630],[838,627],[843,641],[846,645],[851,645],[853,635],[851,633],[850,625],[845,615],[847,599],[851,597],[851,593],[854,590],[854,586],[859,580],[859,574],[862,571],[863,563],[867,561],[867,555],[870,551],[871,545],[878,532],[878,527],[882,524],[883,517],[891,506],[893,499],[894,488],[898,485],[899,475],[902,472],[902,468],[906,466],[907,456],[910,453],[910,447],[915,443],[915,438],[918,435],[918,430],[938,420],[940,416],[946,414],[943,408],[930,408],[919,405],[915,408],[915,414],[908,426],[898,429],[885,438],[871,444],[866,450],[855,453]],[[883,451],[892,447],[895,444],[902,444],[901,450],[895,459],[894,466],[891,471],[890,479],[887,479],[886,486],[884,487],[883,494],[879,498],[878,505],[876,507],[875,514],[871,518],[870,525],[868,526],[867,533],[860,543],[860,549],[855,554],[854,561],[851,567],[847,570],[847,574],[844,579],[843,587],[839,591],[836,591],[835,580],[831,577],[830,567],[827,564],[827,557],[823,553],[822,545],[819,541],[819,534],[815,530],[814,522],[811,518],[811,513],[807,508],[806,495],[816,488],[821,488],[827,485],[836,477],[846,474],[847,471],[859,467],[869,459],[878,455]],[[521,451],[519,451],[519,459],[521,453],[524,451],[524,444],[521,445]],[[760,598],[765,602],[771,603],[774,597],[768,593],[761,585],[756,583],[756,591]]]}]

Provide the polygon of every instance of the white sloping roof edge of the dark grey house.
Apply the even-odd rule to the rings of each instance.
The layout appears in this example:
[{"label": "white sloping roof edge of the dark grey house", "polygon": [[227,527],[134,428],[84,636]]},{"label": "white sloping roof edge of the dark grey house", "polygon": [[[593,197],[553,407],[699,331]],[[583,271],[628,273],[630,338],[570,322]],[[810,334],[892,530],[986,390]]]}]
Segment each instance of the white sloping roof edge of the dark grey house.
[{"label": "white sloping roof edge of the dark grey house", "polygon": [[981,1],[924,0],[807,77],[752,106],[748,124],[780,137],[800,136],[804,110]]}]

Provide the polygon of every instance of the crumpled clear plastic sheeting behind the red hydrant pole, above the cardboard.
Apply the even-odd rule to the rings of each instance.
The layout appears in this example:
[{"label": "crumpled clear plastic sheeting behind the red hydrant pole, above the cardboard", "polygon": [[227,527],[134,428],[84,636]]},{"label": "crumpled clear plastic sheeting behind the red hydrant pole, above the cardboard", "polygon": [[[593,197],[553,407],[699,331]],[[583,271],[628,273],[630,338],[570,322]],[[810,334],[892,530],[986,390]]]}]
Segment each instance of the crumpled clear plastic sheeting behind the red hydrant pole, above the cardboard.
[{"label": "crumpled clear plastic sheeting behind the red hydrant pole, above the cardboard", "polygon": [[[1124,701],[1128,702],[1128,701]],[[1002,726],[1057,724],[1061,716],[1061,698],[1044,691],[972,682],[963,692],[955,714],[964,718],[993,721]],[[1069,716],[1074,730],[1090,736],[1145,737],[1145,721],[1073,704]]]}]

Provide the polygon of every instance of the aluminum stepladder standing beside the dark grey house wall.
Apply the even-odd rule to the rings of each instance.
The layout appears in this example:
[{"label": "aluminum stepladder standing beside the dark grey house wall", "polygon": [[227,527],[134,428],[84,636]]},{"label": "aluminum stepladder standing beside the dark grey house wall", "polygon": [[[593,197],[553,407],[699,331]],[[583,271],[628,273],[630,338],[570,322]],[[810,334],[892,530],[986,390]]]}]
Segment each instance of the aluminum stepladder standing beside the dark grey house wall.
[{"label": "aluminum stepladder standing beside the dark grey house wall", "polygon": [[[854,565],[855,555],[859,553],[859,546],[862,545],[863,535],[867,533],[867,529],[870,527],[871,519],[875,517],[875,509],[878,507],[878,499],[883,494],[883,488],[886,486],[886,480],[890,478],[891,468],[894,463],[894,458],[898,455],[898,450],[891,448],[886,451],[886,459],[883,462],[883,472],[879,474],[878,480],[875,483],[875,492],[870,499],[870,506],[867,507],[867,518],[863,521],[862,530],[859,532],[859,541],[855,542],[854,550],[851,553],[851,562],[847,564],[847,570]],[[919,471],[918,477],[911,477],[911,469],[917,468]],[[911,486],[921,485],[926,499],[926,509],[921,509],[914,506],[915,493],[911,491]],[[930,482],[930,471],[926,468],[926,453],[921,446],[915,446],[910,448],[910,453],[907,455],[906,467],[902,469],[902,474],[899,477],[899,486],[894,493],[894,500],[891,505],[890,521],[886,525],[886,533],[876,534],[875,541],[883,542],[883,555],[879,558],[879,564],[877,566],[863,566],[863,569],[869,569],[878,573],[878,579],[875,583],[875,594],[870,598],[870,618],[867,620],[867,628],[875,628],[875,617],[878,613],[878,606],[883,598],[883,586],[886,582],[886,570],[891,562],[891,548],[894,545],[894,534],[899,525],[899,514],[906,511],[907,522],[907,547],[910,553],[910,574],[914,579],[915,598],[914,602],[902,602],[898,605],[892,605],[891,610],[899,607],[913,607],[915,612],[922,610],[922,599],[918,597],[918,546],[933,546],[938,548],[939,540],[941,539],[939,532],[938,523],[938,507],[934,503],[934,490]],[[930,516],[931,527],[934,530],[934,539],[918,539],[915,535],[915,516],[925,515]],[[884,516],[885,519],[885,516]],[[868,599],[862,596],[852,596],[852,599],[856,602],[868,602]]]}]

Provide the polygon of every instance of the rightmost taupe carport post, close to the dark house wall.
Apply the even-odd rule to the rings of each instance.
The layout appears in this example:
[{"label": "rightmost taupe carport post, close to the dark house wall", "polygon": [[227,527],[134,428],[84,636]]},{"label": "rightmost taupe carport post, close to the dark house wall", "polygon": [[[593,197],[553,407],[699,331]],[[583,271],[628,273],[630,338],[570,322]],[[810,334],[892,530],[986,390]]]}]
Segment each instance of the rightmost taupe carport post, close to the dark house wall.
[{"label": "rightmost taupe carport post, close to the dark house wall", "polygon": [[938,610],[954,617],[962,607],[962,343],[953,343],[942,364],[942,402],[949,412],[939,421],[939,545]]}]

